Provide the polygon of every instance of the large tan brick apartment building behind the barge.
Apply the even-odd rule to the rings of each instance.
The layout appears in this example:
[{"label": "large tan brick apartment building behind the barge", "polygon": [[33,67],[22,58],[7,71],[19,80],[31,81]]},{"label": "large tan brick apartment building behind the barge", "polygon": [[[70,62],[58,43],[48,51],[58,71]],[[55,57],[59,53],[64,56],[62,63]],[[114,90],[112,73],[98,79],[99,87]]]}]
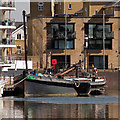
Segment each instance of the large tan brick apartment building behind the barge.
[{"label": "large tan brick apartment building behind the barge", "polygon": [[92,65],[117,69],[119,21],[118,0],[31,2],[28,53],[41,68],[51,68],[52,59],[56,59],[58,68],[82,61],[85,69]]}]

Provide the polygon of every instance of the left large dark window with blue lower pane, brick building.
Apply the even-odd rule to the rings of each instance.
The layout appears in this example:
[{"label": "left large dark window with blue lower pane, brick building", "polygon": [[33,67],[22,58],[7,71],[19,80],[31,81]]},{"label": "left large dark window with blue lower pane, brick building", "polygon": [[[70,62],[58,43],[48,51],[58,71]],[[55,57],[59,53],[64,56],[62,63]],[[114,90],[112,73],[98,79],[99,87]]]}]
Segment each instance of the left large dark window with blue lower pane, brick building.
[{"label": "left large dark window with blue lower pane, brick building", "polygon": [[[65,49],[65,24],[51,24],[54,49]],[[67,24],[67,49],[74,48],[74,24]]]}]

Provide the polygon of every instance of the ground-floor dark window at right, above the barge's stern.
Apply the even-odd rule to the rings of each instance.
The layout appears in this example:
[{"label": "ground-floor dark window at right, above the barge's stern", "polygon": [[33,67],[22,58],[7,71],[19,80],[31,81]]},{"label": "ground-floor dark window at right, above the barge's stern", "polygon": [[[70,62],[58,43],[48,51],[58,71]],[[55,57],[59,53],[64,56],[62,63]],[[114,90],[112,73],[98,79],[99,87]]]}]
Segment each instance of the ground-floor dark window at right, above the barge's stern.
[{"label": "ground-floor dark window at right, above the barge's stern", "polygon": [[[89,67],[92,65],[98,69],[103,69],[103,56],[102,55],[91,55],[89,56]],[[108,69],[108,56],[105,56],[105,68]]]}]

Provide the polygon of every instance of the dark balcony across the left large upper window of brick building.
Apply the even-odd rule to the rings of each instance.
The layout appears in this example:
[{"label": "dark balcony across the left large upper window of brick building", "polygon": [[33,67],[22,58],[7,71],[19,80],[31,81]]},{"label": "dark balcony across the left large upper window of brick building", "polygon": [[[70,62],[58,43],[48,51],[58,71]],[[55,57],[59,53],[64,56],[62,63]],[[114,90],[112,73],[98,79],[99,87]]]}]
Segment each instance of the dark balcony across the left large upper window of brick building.
[{"label": "dark balcony across the left large upper window of brick building", "polygon": [[[75,39],[75,32],[67,32],[67,39]],[[58,31],[53,35],[53,39],[65,39],[65,32]]]}]

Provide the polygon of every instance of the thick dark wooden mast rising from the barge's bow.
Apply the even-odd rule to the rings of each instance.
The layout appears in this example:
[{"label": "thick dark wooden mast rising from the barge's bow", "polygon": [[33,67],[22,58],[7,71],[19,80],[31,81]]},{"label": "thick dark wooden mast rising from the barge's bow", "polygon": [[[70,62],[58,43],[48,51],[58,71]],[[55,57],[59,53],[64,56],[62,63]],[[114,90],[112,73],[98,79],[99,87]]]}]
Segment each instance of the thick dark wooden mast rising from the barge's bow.
[{"label": "thick dark wooden mast rising from the barge's bow", "polygon": [[23,24],[24,24],[24,48],[25,48],[25,64],[26,64],[26,72],[28,72],[27,66],[27,49],[26,49],[26,24],[25,24],[25,10],[23,10]]}]

